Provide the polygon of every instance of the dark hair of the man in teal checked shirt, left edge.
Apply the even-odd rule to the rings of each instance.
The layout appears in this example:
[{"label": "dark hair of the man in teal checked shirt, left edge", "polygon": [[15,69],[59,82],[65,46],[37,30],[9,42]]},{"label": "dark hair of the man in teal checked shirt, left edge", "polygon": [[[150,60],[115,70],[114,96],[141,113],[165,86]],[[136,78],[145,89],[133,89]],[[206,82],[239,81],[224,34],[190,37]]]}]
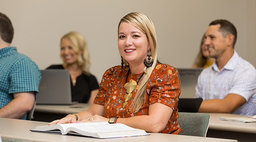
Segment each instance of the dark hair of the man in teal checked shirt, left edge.
[{"label": "dark hair of the man in teal checked shirt, left edge", "polygon": [[11,20],[0,12],[0,36],[3,41],[12,43],[14,29]]}]

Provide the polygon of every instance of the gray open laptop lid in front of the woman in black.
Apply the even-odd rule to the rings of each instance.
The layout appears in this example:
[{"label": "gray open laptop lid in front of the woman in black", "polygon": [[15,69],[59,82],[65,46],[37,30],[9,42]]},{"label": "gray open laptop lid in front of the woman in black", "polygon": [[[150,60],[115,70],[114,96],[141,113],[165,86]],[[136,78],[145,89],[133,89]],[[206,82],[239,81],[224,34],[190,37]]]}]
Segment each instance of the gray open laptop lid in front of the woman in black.
[{"label": "gray open laptop lid in front of the woman in black", "polygon": [[36,104],[74,104],[69,70],[41,70],[41,76]]}]

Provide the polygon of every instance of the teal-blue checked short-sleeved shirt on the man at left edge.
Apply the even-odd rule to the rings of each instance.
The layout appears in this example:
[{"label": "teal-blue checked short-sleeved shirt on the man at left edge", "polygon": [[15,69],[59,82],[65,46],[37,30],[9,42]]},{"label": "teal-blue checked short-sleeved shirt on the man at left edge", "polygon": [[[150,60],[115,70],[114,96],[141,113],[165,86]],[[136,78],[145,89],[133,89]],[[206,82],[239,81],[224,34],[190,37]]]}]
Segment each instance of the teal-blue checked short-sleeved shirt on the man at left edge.
[{"label": "teal-blue checked short-sleeved shirt on the man at left edge", "polygon": [[[0,108],[8,104],[13,93],[38,92],[41,73],[38,66],[16,47],[0,49]],[[20,119],[26,119],[22,116]]]}]

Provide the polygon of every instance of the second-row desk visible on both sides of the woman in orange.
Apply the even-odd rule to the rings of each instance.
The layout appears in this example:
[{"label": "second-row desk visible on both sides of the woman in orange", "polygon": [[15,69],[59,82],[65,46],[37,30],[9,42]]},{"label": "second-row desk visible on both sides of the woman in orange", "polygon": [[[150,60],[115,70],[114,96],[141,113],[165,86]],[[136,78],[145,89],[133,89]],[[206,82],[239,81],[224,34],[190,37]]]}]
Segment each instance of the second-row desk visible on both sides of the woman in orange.
[{"label": "second-row desk visible on both sides of the woman in orange", "polygon": [[[90,104],[79,103],[75,105],[36,105],[35,120],[51,122],[60,119],[70,113],[79,113],[87,110]],[[219,116],[224,117],[248,117],[227,113],[209,113],[210,122],[207,137],[238,139],[242,142],[255,142],[256,123],[239,123],[220,120]]]}]

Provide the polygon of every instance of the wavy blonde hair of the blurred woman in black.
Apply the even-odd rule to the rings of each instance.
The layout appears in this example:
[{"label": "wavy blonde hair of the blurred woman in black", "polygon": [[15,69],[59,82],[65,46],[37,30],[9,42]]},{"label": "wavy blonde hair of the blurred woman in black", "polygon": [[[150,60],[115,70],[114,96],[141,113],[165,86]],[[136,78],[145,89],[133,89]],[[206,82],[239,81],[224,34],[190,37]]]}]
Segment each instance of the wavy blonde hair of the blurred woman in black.
[{"label": "wavy blonde hair of the blurred woman in black", "polygon": [[[82,68],[82,71],[84,73],[90,73],[89,52],[83,35],[81,35],[79,32],[69,32],[66,35],[63,35],[61,41],[62,39],[67,39],[70,42],[73,50],[78,54],[77,62],[79,67]],[[67,67],[67,63],[64,60],[63,66]]]}]

